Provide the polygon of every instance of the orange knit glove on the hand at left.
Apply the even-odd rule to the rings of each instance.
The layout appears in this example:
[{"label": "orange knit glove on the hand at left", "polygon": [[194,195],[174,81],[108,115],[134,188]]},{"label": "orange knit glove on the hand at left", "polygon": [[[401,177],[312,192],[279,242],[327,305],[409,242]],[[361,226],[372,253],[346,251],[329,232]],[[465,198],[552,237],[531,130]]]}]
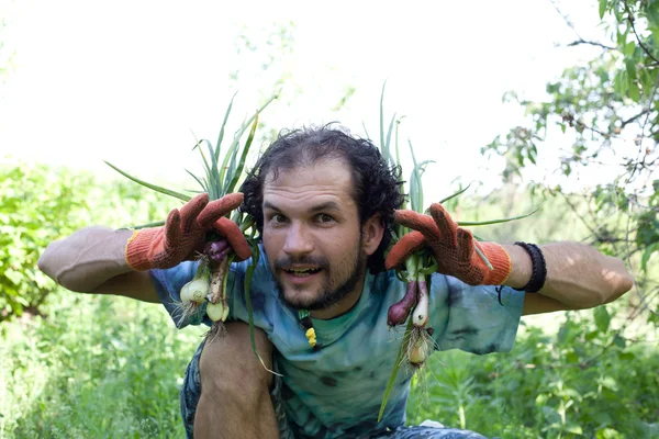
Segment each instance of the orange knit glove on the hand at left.
[{"label": "orange knit glove on the hand at left", "polygon": [[126,245],[126,262],[136,271],[175,267],[192,259],[203,248],[206,232],[213,228],[225,236],[237,259],[249,258],[249,246],[241,229],[224,217],[241,203],[242,193],[231,193],[210,203],[208,193],[194,196],[180,211],[169,212],[165,226],[135,230]]}]

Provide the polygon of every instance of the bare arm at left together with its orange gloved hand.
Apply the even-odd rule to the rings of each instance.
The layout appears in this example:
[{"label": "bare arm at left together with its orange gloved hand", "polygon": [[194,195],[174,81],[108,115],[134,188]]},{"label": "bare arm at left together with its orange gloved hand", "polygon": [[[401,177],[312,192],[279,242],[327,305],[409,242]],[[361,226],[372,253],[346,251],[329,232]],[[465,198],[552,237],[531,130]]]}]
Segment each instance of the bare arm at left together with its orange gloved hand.
[{"label": "bare arm at left together with its orange gloved hand", "polygon": [[149,270],[172,268],[190,259],[196,249],[203,246],[206,232],[215,226],[226,233],[236,256],[242,259],[250,256],[239,228],[228,219],[233,228],[222,222],[223,216],[242,202],[239,192],[213,201],[209,201],[208,193],[200,193],[180,210],[171,210],[163,227],[144,228],[135,234],[125,229],[85,227],[52,243],[40,258],[38,268],[71,291],[118,294],[157,303],[160,301]]}]

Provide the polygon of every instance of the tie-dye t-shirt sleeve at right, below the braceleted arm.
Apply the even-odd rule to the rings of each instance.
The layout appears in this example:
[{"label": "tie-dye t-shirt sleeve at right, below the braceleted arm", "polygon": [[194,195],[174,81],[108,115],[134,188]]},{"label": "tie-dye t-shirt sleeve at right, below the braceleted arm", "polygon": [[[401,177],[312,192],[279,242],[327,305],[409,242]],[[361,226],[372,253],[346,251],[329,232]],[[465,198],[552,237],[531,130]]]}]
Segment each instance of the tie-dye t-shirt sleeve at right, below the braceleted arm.
[{"label": "tie-dye t-shirt sleeve at right, below the braceleted arm", "polygon": [[440,274],[433,275],[431,291],[429,317],[437,350],[485,354],[513,348],[524,292],[509,286],[471,286]]}]

